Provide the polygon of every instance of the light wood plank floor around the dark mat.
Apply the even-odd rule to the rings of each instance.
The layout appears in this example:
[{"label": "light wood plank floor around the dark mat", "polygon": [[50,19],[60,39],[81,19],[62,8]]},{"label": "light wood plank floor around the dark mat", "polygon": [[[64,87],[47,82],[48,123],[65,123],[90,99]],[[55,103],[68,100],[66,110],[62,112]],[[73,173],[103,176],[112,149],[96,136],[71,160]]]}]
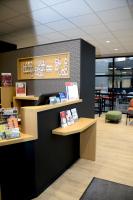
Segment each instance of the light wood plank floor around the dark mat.
[{"label": "light wood plank floor around the dark mat", "polygon": [[133,186],[133,124],[97,119],[96,161],[78,160],[35,200],[78,200],[93,177]]}]

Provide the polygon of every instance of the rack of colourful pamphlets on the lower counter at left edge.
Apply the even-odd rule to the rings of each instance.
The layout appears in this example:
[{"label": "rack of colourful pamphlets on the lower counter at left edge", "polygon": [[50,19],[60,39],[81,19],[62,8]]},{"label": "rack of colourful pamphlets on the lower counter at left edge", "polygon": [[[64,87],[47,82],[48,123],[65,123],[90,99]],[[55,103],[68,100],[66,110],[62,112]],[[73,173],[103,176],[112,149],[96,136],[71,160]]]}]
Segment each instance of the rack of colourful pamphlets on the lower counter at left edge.
[{"label": "rack of colourful pamphlets on the lower counter at left edge", "polygon": [[20,137],[17,108],[0,109],[0,140]]}]

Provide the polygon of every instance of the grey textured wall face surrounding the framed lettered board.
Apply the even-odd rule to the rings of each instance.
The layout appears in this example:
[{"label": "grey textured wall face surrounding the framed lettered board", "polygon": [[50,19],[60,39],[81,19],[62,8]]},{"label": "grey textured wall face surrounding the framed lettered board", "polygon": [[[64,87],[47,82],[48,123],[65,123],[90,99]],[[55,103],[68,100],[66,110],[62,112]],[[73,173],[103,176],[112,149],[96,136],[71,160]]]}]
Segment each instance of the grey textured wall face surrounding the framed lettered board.
[{"label": "grey textured wall face surrounding the framed lettered board", "polygon": [[80,85],[80,39],[42,46],[29,47],[0,54],[0,73],[11,72],[13,83],[17,81],[17,58],[70,52],[70,79],[28,80],[27,94],[39,96],[41,93],[63,91],[64,82],[76,81]]}]

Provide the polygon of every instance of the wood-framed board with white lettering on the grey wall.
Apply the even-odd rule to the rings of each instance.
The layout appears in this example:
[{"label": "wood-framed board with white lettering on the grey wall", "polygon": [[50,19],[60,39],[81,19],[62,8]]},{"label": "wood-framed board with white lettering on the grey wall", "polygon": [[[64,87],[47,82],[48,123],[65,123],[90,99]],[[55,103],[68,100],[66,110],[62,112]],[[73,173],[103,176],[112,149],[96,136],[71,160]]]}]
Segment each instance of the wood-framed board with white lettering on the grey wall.
[{"label": "wood-framed board with white lettering on the grey wall", "polygon": [[70,53],[19,58],[17,66],[18,80],[70,78]]}]

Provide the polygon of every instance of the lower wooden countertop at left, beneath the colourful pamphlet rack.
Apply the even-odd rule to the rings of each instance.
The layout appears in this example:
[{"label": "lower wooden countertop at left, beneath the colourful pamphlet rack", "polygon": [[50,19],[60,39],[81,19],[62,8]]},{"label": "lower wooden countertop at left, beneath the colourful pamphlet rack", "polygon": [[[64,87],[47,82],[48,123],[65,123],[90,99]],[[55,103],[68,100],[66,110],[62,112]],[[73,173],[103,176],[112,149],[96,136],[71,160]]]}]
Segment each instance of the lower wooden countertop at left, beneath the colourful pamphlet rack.
[{"label": "lower wooden countertop at left, beneath the colourful pamphlet rack", "polygon": [[16,144],[16,143],[20,143],[20,142],[27,142],[27,141],[31,141],[31,140],[35,140],[35,139],[36,138],[32,135],[21,133],[21,137],[19,137],[19,138],[0,140],[0,146]]}]

